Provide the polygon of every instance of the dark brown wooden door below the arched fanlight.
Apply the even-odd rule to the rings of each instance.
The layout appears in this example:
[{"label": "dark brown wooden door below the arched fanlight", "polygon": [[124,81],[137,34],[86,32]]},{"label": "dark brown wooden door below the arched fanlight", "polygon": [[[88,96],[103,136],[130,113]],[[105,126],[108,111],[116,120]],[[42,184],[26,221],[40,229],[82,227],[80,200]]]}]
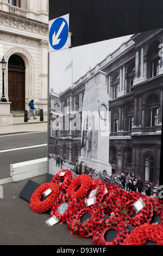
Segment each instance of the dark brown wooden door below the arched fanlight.
[{"label": "dark brown wooden door below the arched fanlight", "polygon": [[8,70],[8,95],[12,111],[25,109],[25,70],[9,66]]}]

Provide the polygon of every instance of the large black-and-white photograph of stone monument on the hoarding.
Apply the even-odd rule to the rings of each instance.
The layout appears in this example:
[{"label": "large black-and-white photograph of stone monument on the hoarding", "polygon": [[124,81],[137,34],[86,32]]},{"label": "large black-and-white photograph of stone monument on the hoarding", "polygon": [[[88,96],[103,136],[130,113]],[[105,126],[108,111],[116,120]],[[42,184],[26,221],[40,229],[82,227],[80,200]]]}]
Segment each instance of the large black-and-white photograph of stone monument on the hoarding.
[{"label": "large black-and-white photograph of stone monument on the hoarding", "polygon": [[49,174],[158,196],[162,47],[159,28],[49,52]]}]

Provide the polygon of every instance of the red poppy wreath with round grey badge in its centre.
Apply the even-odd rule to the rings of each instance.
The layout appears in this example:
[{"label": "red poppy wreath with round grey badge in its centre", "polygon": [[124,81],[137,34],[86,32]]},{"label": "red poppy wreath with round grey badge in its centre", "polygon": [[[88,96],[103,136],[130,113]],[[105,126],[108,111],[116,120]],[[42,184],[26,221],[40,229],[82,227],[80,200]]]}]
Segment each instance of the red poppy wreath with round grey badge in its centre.
[{"label": "red poppy wreath with round grey badge in its centre", "polygon": [[[63,203],[68,203],[68,208],[62,214],[59,213],[59,207]],[[73,208],[77,204],[76,198],[70,197],[68,194],[60,193],[57,200],[54,202],[51,210],[51,216],[55,215],[60,223],[64,223],[67,221],[67,218],[70,215],[70,209]]]}]

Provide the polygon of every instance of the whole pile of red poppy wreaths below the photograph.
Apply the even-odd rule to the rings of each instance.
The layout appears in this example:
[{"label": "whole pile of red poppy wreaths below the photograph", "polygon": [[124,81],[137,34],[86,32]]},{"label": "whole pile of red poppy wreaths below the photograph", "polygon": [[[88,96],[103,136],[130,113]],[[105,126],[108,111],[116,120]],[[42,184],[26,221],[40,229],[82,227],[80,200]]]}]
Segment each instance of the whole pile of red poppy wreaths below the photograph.
[{"label": "whole pile of red poppy wreaths below the photograph", "polygon": [[[48,190],[48,196],[42,200],[42,194]],[[133,216],[133,203],[140,198],[144,207]],[[60,212],[65,202],[68,206]],[[163,202],[139,192],[127,193],[117,185],[105,184],[86,174],[73,179],[73,172],[61,170],[51,182],[34,191],[30,208],[40,214],[50,210],[60,223],[67,223],[72,235],[92,236],[95,245],[142,245],[147,240],[163,245]],[[85,214],[89,217],[83,221]],[[150,224],[154,214],[161,216],[160,224]],[[135,229],[129,232],[128,224]],[[117,231],[111,242],[105,240],[109,229]]]}]

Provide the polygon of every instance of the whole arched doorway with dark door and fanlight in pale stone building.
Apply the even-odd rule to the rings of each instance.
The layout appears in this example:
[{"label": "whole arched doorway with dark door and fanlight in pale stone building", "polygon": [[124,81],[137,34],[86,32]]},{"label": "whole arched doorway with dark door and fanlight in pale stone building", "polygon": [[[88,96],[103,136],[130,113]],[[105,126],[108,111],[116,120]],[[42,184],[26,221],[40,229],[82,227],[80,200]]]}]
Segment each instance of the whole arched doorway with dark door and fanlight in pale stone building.
[{"label": "whole arched doorway with dark door and fanlight in pale stone building", "polygon": [[8,96],[11,111],[25,109],[25,65],[20,56],[12,55],[8,60]]}]

